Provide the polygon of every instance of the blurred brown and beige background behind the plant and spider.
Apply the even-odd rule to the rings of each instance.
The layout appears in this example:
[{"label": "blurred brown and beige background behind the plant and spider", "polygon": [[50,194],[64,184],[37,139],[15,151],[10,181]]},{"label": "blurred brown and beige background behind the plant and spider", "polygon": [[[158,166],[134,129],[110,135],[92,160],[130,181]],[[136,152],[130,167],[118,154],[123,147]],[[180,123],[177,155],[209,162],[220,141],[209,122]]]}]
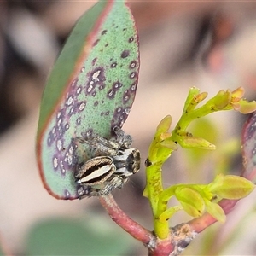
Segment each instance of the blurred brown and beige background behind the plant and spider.
[{"label": "blurred brown and beige background behind the plant and spider", "polygon": [[[26,234],[39,219],[80,216],[87,209],[103,212],[96,198],[57,201],[48,195],[35,160],[44,83],[73,24],[93,4],[0,2],[0,234],[3,244],[15,255],[22,255]],[[189,87],[196,86],[213,96],[218,90],[243,86],[247,99],[255,99],[256,3],[131,1],[131,10],[139,31],[141,69],[137,97],[124,129],[141,150],[142,162],[147,158],[147,148],[160,119],[171,114],[172,124],[176,124]],[[231,137],[240,137],[245,120],[241,114],[215,113],[211,118],[218,126],[219,145]],[[210,182],[214,176],[211,154],[202,170],[198,170],[201,174],[194,177],[187,175],[189,165],[182,151],[178,150],[166,164],[165,183]],[[234,162],[233,169],[241,171],[241,158]],[[152,230],[148,201],[142,197],[144,184],[142,167],[114,196],[125,212]],[[219,240],[228,237],[234,224],[248,216],[242,236],[222,253],[255,255],[253,207],[250,195],[230,214],[227,224],[211,228],[218,234],[215,249],[218,242],[222,246]],[[177,215],[172,225],[189,219]],[[220,230],[216,231],[217,228]],[[207,233],[197,237],[184,255],[201,253],[204,234]],[[208,248],[209,255],[217,253],[215,249]],[[145,254],[140,245],[134,252]]]}]

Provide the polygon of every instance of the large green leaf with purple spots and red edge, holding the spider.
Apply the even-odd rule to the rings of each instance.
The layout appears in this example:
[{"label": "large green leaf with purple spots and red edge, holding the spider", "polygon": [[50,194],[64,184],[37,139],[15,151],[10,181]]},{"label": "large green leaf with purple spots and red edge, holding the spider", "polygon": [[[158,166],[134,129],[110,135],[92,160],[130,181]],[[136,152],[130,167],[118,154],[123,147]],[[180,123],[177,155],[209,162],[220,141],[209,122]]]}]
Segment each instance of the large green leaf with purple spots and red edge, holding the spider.
[{"label": "large green leaf with purple spots and red edge, holding the spider", "polygon": [[74,26],[49,75],[40,108],[38,168],[58,199],[77,199],[74,172],[94,151],[73,140],[113,137],[137,90],[137,29],[125,1],[99,1]]}]

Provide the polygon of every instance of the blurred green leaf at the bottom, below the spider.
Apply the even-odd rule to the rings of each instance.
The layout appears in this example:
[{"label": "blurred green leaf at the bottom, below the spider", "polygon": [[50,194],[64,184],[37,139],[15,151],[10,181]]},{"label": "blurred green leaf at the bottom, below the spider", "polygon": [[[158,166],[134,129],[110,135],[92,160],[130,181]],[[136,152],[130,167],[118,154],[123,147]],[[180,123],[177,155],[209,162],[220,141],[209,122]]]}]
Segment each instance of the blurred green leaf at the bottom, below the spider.
[{"label": "blurred green leaf at the bottom, below the spider", "polygon": [[[101,218],[101,225],[98,219]],[[86,220],[86,219],[85,219]],[[26,255],[127,255],[133,239],[104,217],[51,218],[32,228]]]}]

